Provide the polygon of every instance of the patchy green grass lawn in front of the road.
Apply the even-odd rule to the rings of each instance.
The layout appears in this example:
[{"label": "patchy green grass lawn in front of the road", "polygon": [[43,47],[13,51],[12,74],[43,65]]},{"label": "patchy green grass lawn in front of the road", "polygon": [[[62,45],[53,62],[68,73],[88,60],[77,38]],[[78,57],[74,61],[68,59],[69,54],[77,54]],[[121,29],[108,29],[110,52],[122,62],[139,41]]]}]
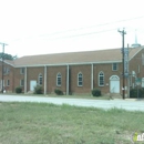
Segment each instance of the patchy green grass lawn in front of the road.
[{"label": "patchy green grass lawn in front of the road", "polygon": [[143,120],[144,112],[2,102],[0,144],[131,144]]}]

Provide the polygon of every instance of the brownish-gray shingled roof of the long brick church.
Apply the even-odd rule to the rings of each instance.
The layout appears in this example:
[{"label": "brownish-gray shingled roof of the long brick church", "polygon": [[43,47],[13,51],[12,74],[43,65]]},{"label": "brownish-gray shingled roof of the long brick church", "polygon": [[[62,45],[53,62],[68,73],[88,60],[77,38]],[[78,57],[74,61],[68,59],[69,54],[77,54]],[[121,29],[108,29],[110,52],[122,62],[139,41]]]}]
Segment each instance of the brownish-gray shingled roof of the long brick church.
[{"label": "brownish-gray shingled roof of the long brick church", "polygon": [[[132,59],[143,48],[132,49],[130,59]],[[61,64],[79,64],[79,63],[104,63],[121,62],[121,49],[54,53],[41,55],[27,55],[8,63],[14,66],[32,66],[32,65],[61,65]]]}]

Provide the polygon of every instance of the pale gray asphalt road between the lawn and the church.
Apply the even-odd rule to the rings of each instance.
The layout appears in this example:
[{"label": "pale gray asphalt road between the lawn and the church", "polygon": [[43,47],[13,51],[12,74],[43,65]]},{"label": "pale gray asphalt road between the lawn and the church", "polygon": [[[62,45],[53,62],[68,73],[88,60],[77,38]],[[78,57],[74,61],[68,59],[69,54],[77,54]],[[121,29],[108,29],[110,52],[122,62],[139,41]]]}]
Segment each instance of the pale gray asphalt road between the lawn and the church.
[{"label": "pale gray asphalt road between the lawn and the church", "polygon": [[40,97],[21,95],[0,95],[0,102],[38,102],[53,104],[70,104],[76,106],[93,106],[104,110],[117,107],[127,111],[144,111],[144,101],[136,100],[86,100],[86,99],[63,99],[63,97]]}]

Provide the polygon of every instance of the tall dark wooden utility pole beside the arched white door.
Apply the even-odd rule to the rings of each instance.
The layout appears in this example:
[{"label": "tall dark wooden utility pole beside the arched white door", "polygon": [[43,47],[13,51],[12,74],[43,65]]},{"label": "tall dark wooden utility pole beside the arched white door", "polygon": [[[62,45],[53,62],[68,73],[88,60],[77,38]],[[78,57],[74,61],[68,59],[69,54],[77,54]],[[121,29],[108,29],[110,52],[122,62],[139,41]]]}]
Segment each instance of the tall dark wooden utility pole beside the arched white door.
[{"label": "tall dark wooden utility pole beside the arched white door", "polygon": [[122,65],[123,65],[123,88],[122,88],[122,91],[123,91],[123,99],[125,99],[125,64],[124,64],[124,56],[125,56],[125,50],[124,50],[124,34],[126,34],[125,30],[123,29],[122,31],[119,30],[119,32],[122,34]]}]

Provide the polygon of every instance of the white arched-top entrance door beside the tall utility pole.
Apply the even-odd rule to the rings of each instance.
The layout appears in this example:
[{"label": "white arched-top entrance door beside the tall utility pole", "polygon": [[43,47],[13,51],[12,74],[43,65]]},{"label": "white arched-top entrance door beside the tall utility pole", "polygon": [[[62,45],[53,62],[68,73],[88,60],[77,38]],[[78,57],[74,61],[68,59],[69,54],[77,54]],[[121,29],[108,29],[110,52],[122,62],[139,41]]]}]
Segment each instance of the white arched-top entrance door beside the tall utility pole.
[{"label": "white arched-top entrance door beside the tall utility pole", "polygon": [[112,75],[110,78],[110,92],[120,93],[120,78],[117,75]]}]

